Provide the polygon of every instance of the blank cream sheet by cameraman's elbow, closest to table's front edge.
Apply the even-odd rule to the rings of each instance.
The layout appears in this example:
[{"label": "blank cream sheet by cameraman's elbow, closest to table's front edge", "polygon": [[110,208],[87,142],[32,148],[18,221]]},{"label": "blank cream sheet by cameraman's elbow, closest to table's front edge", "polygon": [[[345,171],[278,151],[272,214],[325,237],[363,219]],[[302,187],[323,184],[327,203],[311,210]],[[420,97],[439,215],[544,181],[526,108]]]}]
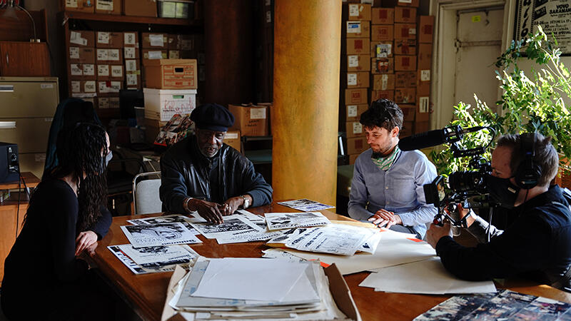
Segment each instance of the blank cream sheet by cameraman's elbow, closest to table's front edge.
[{"label": "blank cream sheet by cameraman's elbow, closest to table's front edge", "polygon": [[360,283],[362,287],[399,293],[447,294],[495,292],[494,282],[470,282],[450,274],[440,258],[385,267],[371,273]]}]

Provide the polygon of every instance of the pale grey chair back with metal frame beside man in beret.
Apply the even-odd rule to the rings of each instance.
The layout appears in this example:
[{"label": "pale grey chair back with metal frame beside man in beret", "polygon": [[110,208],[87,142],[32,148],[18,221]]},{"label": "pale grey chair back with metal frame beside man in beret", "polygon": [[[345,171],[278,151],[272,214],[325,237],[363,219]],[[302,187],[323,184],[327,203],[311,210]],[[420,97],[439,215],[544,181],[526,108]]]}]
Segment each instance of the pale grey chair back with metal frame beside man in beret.
[{"label": "pale grey chair back with metal frame beside man in beret", "polygon": [[[142,178],[149,178],[143,180]],[[158,196],[161,187],[161,172],[148,172],[135,175],[133,178],[133,207],[136,215],[160,213],[163,203]]]}]

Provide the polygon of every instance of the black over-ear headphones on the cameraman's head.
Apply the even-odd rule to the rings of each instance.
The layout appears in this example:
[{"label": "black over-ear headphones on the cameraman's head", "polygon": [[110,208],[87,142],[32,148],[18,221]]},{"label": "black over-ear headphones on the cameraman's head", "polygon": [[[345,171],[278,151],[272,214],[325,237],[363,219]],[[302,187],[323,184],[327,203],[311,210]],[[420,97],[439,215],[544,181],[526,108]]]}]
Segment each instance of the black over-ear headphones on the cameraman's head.
[{"label": "black over-ear headphones on the cameraman's head", "polygon": [[522,133],[520,135],[520,150],[522,161],[515,170],[515,184],[524,190],[537,186],[541,177],[541,166],[534,163],[535,157],[535,133]]}]

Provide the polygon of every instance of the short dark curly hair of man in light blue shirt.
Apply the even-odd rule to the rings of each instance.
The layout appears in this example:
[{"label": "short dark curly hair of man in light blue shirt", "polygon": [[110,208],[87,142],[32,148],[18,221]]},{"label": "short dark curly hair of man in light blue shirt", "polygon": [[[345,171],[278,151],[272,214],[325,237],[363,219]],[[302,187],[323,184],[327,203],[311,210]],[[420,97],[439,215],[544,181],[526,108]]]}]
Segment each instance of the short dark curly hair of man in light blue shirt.
[{"label": "short dark curly hair of man in light blue shirt", "polygon": [[403,128],[403,111],[393,101],[388,99],[378,99],[370,104],[370,107],[361,114],[359,123],[365,128],[378,126],[392,131],[393,128]]}]

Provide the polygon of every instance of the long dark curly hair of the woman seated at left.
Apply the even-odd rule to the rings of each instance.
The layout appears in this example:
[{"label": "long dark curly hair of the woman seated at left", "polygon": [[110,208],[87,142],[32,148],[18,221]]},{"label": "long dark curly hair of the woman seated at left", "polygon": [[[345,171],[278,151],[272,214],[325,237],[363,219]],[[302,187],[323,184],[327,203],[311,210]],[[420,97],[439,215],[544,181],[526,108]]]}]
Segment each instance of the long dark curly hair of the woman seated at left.
[{"label": "long dark curly hair of the woman seated at left", "polygon": [[46,178],[70,174],[74,177],[78,185],[77,230],[87,230],[101,216],[101,205],[107,203],[105,129],[93,123],[78,123],[75,128],[64,129],[58,134],[56,153],[59,165]]}]

